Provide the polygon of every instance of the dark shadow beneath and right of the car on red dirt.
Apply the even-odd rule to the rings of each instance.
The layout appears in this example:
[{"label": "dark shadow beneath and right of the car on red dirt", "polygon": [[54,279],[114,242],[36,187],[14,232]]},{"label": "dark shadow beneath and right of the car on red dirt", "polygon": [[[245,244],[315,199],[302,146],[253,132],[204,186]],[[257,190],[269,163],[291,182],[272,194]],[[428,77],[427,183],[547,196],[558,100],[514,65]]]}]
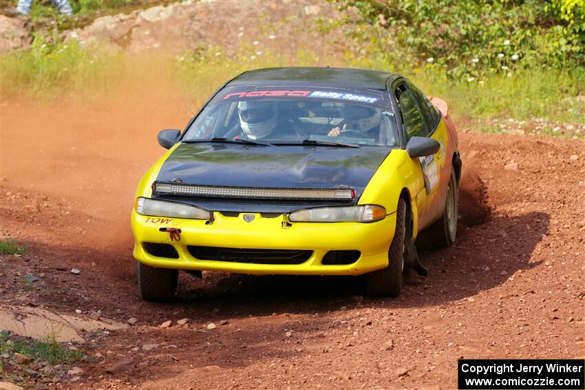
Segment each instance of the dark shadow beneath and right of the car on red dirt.
[{"label": "dark shadow beneath and right of the car on red dirt", "polygon": [[[469,227],[448,249],[421,252],[428,277],[408,277],[397,299],[372,299],[367,303],[396,307],[437,305],[463,299],[504,283],[515,272],[538,266],[532,252],[548,232],[549,215],[489,218]],[[207,273],[202,280],[182,277],[180,305],[220,305],[240,314],[315,312],[337,310],[360,303],[364,277],[250,276]]]}]

